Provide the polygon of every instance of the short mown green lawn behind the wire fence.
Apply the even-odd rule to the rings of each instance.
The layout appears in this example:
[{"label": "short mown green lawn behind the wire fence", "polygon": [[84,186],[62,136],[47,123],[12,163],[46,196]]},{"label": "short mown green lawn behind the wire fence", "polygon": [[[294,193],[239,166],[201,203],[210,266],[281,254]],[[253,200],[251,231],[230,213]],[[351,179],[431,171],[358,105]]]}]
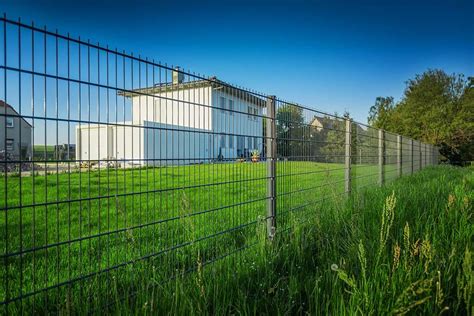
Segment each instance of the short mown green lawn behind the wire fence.
[{"label": "short mown green lawn behind the wire fence", "polygon": [[[314,215],[315,205],[343,203],[343,165],[279,162],[277,169],[282,231]],[[393,179],[394,168],[386,171]],[[376,166],[353,173],[356,188],[378,178]],[[24,296],[8,312],[103,308],[258,245],[266,181],[263,163],[5,177],[1,300]]]}]

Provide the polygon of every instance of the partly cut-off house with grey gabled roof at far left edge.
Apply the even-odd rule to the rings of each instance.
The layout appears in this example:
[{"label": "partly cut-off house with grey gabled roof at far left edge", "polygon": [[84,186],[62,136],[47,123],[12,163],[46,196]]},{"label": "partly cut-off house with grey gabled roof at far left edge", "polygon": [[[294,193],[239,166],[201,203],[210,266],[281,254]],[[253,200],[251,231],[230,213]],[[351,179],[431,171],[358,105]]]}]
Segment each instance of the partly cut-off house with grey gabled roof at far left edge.
[{"label": "partly cut-off house with grey gabled roof at far left edge", "polygon": [[0,152],[6,151],[12,159],[30,159],[32,128],[10,104],[0,100]]}]

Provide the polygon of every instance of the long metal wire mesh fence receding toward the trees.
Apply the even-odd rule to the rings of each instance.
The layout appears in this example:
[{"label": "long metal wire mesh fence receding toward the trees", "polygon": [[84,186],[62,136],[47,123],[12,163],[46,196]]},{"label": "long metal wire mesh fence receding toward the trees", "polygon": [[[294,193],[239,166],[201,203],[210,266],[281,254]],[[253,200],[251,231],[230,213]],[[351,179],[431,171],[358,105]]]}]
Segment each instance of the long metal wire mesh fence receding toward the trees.
[{"label": "long metal wire mesh fence receding toward the trees", "polygon": [[165,282],[252,246],[260,222],[273,238],[437,163],[348,118],[0,21],[2,314],[113,304],[144,271]]}]

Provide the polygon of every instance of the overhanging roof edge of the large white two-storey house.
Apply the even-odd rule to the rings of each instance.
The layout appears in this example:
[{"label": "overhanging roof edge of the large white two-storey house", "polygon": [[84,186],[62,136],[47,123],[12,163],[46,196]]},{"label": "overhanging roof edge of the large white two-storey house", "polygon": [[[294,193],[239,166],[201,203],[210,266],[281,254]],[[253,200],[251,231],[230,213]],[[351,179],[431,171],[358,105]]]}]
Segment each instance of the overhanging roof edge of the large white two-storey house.
[{"label": "overhanging roof edge of the large white two-storey house", "polygon": [[251,92],[247,92],[245,90],[235,88],[224,81],[220,81],[217,78],[213,77],[210,79],[202,79],[202,80],[194,80],[189,82],[183,83],[160,83],[155,84],[153,87],[141,88],[141,89],[134,89],[133,92],[131,91],[119,91],[118,94],[125,96],[125,97],[135,97],[139,95],[153,95],[158,93],[170,92],[170,91],[179,91],[179,90],[187,90],[187,89],[195,89],[195,88],[202,88],[202,87],[212,87],[213,89],[220,89],[225,93],[232,95],[236,98],[249,101],[253,104],[265,107],[266,100],[257,96]]}]

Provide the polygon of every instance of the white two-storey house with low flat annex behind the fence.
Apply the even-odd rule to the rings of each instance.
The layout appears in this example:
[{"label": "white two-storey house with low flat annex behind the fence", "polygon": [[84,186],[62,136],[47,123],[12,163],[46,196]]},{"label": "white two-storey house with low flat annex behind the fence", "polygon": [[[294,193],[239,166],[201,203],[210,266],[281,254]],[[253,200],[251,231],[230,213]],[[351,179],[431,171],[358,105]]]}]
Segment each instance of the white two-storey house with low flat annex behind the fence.
[{"label": "white two-storey house with low flat annex behind the fence", "polygon": [[263,150],[264,99],[216,78],[183,77],[173,71],[172,82],[119,92],[132,99],[132,120],[77,126],[76,159],[192,164]]}]

